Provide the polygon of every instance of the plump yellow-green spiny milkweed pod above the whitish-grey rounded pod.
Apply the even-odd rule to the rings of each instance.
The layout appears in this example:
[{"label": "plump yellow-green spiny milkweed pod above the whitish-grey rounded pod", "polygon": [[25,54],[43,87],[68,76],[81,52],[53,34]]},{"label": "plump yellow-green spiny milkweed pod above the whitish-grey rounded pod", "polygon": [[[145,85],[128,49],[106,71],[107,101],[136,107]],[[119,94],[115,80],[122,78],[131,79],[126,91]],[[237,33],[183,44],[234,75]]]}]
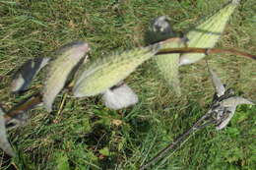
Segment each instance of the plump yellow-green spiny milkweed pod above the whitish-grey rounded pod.
[{"label": "plump yellow-green spiny milkweed pod above the whitish-grey rounded pod", "polygon": [[98,58],[75,80],[73,93],[76,97],[92,96],[104,92],[128,77],[158,51],[159,44],[137,48],[121,54]]}]

